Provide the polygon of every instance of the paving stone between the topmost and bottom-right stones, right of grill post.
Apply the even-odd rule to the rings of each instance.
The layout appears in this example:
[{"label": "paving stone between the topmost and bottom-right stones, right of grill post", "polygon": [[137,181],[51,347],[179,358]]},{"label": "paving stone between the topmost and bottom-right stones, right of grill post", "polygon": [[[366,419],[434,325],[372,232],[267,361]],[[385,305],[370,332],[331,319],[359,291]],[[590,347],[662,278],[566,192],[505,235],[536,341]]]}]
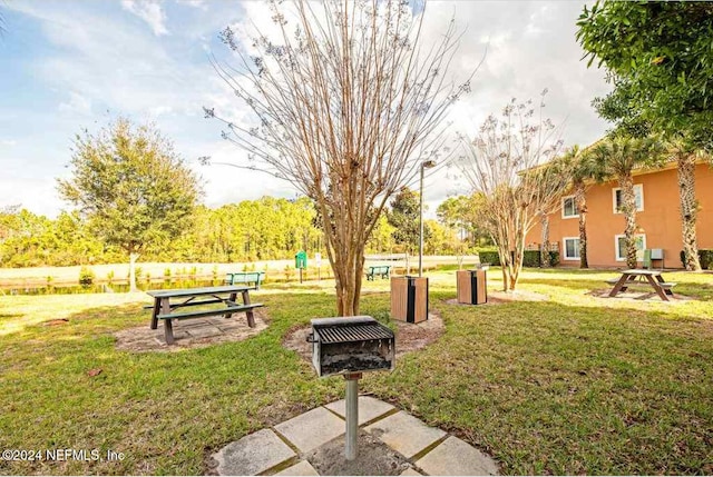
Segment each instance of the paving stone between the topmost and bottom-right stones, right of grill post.
[{"label": "paving stone between the topmost and bottom-right stones, right of grill post", "polygon": [[378,420],[367,430],[409,459],[446,436],[441,429],[429,427],[404,411]]}]

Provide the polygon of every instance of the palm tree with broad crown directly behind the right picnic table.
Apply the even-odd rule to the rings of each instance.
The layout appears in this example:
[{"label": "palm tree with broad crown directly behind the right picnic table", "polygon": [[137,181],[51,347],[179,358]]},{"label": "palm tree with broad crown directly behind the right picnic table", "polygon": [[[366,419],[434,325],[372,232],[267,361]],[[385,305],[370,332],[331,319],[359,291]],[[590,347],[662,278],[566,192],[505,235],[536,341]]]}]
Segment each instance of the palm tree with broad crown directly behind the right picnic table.
[{"label": "palm tree with broad crown directly behind the right picnic table", "polygon": [[622,207],[626,226],[626,266],[636,268],[636,196],[632,171],[642,167],[656,167],[665,161],[663,148],[652,138],[615,136],[592,149],[593,157],[607,177],[615,178],[622,189]]}]

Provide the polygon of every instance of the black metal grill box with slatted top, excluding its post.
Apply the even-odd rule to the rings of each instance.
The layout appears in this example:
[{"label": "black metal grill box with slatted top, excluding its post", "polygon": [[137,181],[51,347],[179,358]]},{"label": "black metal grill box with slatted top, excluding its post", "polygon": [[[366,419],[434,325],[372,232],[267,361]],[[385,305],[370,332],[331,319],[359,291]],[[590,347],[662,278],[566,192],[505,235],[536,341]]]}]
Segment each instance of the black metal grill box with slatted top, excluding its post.
[{"label": "black metal grill box with slatted top, excluding its post", "polygon": [[393,370],[393,331],[369,316],[312,320],[312,365],[318,376]]}]

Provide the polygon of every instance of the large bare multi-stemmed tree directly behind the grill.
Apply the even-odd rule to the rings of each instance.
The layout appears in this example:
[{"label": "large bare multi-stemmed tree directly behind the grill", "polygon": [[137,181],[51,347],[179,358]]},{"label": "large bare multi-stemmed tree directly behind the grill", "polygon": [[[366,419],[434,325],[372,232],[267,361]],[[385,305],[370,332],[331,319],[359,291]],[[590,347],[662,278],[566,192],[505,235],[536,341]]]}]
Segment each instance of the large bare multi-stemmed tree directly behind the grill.
[{"label": "large bare multi-stemmed tree directly behind the grill", "polygon": [[292,12],[270,4],[277,42],[258,33],[248,56],[226,28],[241,69],[214,61],[257,126],[206,116],[224,120],[224,137],[248,152],[251,163],[236,166],[285,179],[314,201],[338,312],[355,315],[364,247],[384,205],[423,159],[445,153],[447,109],[469,90],[469,80],[446,78],[458,36],[451,20],[439,42],[421,46],[424,12],[403,1],[296,0]]}]

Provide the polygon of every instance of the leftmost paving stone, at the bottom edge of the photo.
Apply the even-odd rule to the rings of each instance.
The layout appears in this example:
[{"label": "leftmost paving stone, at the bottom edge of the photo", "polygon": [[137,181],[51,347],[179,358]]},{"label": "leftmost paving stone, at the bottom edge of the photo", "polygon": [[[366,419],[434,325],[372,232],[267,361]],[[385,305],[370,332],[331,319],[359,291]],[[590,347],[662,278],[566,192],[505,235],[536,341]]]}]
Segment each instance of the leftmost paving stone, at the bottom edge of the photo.
[{"label": "leftmost paving stone, at the bottom edge of the photo", "polygon": [[218,475],[254,476],[295,456],[275,433],[263,429],[228,444],[213,458],[218,461]]}]

